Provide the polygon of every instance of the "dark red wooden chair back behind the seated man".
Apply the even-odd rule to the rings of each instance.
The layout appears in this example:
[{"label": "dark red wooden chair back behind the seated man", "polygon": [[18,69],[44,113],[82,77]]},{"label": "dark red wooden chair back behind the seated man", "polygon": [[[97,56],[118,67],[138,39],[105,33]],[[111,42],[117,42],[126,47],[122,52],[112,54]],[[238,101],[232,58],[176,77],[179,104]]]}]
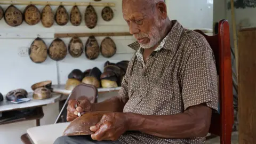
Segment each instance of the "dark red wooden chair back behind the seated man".
[{"label": "dark red wooden chair back behind the seated man", "polygon": [[209,133],[220,136],[222,144],[230,144],[234,111],[229,23],[227,20],[221,20],[218,34],[213,36],[205,35],[201,30],[195,31],[202,34],[210,44],[219,76],[219,113],[212,114]]}]

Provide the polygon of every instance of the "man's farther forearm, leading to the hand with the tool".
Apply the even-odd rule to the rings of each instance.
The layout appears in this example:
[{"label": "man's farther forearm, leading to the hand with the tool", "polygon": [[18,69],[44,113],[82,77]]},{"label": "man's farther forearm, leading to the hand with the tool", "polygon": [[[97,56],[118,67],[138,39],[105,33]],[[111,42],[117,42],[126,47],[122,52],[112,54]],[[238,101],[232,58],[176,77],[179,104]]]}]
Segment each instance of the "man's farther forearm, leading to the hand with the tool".
[{"label": "man's farther forearm, leading to the hand with the tool", "polygon": [[99,103],[92,103],[92,111],[123,112],[127,99],[119,96],[107,99]]}]

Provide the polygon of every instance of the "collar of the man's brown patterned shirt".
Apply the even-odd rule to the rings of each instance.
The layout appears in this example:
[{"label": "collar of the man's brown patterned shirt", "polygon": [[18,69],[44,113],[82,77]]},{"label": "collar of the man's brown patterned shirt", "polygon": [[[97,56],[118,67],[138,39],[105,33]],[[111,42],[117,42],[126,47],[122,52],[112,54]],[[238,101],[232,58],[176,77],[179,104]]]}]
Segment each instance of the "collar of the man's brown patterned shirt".
[{"label": "collar of the man's brown patterned shirt", "polygon": [[[160,49],[166,49],[166,50],[176,50],[179,44],[179,41],[173,41],[173,39],[175,39],[174,37],[181,37],[181,34],[183,32],[183,27],[180,25],[180,23],[177,20],[172,20],[172,22],[174,23],[172,29],[170,30],[169,34],[167,34],[167,36],[162,40],[162,46]],[[169,43],[171,45],[167,45],[166,44]],[[140,44],[138,43],[138,41],[129,44],[129,47],[131,47],[131,49],[138,51],[140,50]],[[156,50],[159,50],[158,47]]]}]

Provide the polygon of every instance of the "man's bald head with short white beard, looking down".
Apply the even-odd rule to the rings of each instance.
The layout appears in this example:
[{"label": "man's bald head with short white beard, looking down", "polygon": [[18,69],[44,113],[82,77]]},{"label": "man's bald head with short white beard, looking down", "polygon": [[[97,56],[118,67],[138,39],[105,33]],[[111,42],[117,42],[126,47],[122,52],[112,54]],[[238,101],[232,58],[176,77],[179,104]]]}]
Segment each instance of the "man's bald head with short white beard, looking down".
[{"label": "man's bald head with short white beard, looking down", "polygon": [[123,0],[122,9],[130,33],[143,48],[155,46],[164,37],[170,23],[164,0]]}]

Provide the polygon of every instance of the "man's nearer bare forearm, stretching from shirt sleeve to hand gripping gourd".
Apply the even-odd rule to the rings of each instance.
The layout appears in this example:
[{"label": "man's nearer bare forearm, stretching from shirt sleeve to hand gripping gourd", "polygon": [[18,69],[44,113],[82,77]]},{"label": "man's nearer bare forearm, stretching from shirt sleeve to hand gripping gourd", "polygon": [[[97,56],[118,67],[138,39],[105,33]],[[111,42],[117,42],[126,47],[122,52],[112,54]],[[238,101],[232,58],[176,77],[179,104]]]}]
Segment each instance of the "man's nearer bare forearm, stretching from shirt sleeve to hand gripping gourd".
[{"label": "man's nearer bare forearm, stretching from shirt sleeve to hand gripping gourd", "polygon": [[[209,130],[211,109],[206,108],[206,115],[150,116],[127,113],[129,131],[140,131],[161,138],[191,138],[205,137]],[[207,119],[207,120],[205,120]],[[210,119],[210,120],[209,120]]]}]

